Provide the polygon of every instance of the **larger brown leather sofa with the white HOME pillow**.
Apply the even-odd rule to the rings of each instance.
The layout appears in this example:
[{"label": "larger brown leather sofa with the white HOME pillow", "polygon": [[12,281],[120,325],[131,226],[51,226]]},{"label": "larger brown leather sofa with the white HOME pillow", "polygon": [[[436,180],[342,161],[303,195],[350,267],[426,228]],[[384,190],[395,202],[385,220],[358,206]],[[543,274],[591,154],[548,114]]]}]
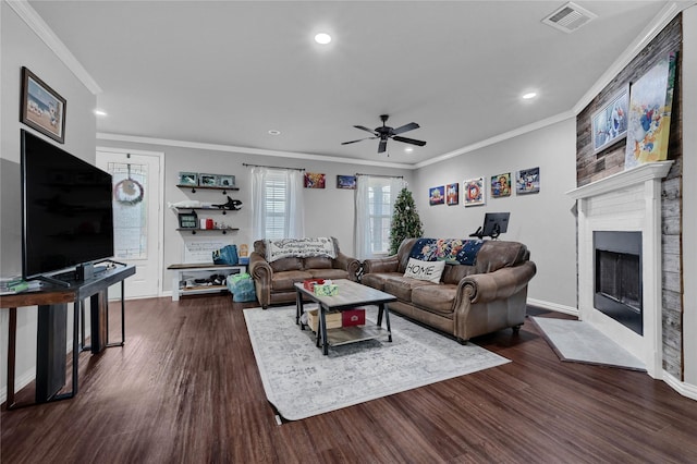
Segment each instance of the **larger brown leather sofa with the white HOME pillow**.
[{"label": "larger brown leather sofa with the white HOME pillow", "polygon": [[406,239],[396,255],[363,262],[360,282],[390,293],[390,310],[454,335],[473,337],[513,328],[525,321],[527,283],[535,262],[517,242],[485,241],[474,265],[447,264],[439,283],[404,277],[418,239]]}]

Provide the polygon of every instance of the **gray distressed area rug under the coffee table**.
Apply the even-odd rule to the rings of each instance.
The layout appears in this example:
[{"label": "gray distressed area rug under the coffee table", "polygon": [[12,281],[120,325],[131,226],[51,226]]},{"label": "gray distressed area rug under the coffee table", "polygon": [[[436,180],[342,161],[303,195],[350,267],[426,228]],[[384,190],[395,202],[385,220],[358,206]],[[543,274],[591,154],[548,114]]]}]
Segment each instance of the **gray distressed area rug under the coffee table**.
[{"label": "gray distressed area rug under the coffee table", "polygon": [[[314,333],[295,325],[294,306],[244,309],[244,317],[266,395],[288,420],[510,362],[394,314],[390,317],[392,343],[382,338],[332,346],[327,356],[315,346]],[[376,318],[377,307],[367,306],[366,325],[375,325]]]}]

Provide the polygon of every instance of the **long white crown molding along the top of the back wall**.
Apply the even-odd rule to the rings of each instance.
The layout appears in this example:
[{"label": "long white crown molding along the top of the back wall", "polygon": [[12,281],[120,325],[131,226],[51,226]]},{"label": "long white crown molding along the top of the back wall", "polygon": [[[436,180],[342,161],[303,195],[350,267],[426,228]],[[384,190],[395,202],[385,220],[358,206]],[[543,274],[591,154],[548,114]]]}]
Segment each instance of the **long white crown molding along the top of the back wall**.
[{"label": "long white crown molding along the top of the back wall", "polygon": [[194,148],[194,149],[211,150],[211,151],[236,152],[236,154],[254,155],[254,156],[272,156],[276,158],[293,158],[293,159],[302,159],[302,160],[308,160],[308,161],[343,162],[348,164],[375,166],[380,168],[392,168],[392,169],[409,169],[409,170],[416,169],[415,164],[404,164],[404,163],[384,162],[384,161],[370,161],[370,160],[354,159],[354,158],[337,158],[337,157],[330,157],[326,155],[313,155],[313,154],[304,154],[298,151],[267,150],[267,149],[260,149],[260,148],[237,147],[234,145],[173,141],[170,138],[154,138],[154,137],[143,137],[143,136],[136,136],[136,135],[109,134],[109,133],[102,133],[102,132],[97,133],[97,139],[127,142],[132,144],[162,145],[162,146],[179,147],[179,148]]}]

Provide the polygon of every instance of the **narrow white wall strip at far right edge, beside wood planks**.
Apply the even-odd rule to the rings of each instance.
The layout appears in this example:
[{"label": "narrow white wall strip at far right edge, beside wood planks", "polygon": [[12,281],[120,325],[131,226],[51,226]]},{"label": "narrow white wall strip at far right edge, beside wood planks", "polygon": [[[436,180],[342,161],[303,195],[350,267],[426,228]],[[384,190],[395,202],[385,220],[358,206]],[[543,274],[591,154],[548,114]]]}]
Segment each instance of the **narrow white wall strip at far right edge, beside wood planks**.
[{"label": "narrow white wall strip at far right edge, beside wood planks", "polygon": [[683,13],[683,367],[697,398],[697,7]]}]

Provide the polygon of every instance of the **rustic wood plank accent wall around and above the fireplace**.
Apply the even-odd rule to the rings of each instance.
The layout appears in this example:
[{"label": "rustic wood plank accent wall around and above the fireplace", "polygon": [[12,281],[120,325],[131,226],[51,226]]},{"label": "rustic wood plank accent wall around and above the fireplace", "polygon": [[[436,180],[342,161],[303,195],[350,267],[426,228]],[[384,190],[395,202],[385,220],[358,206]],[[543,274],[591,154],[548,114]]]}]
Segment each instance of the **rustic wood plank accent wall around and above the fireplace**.
[{"label": "rustic wood plank accent wall around and above the fireplace", "polygon": [[673,160],[668,176],[661,183],[662,195],[662,319],[663,369],[683,379],[683,283],[682,283],[682,14],[665,28],[608,84],[576,118],[576,184],[586,185],[624,170],[626,138],[594,154],[591,117],[608,105],[609,99],[627,83],[641,77],[657,61],[671,51],[677,52],[675,90],[671,114],[668,158]]}]

